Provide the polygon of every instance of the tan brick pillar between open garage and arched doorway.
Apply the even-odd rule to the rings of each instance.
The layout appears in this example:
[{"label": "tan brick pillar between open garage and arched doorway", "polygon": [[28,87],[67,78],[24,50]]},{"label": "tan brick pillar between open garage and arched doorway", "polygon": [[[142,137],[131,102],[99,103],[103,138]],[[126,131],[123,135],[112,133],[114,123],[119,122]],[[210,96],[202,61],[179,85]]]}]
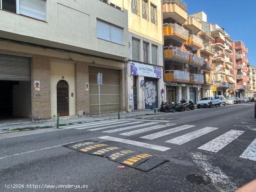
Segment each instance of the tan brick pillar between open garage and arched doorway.
[{"label": "tan brick pillar between open garage and arched doorway", "polygon": [[[51,119],[50,59],[34,56],[31,59],[32,120]],[[40,91],[34,90],[34,81],[40,81]]]}]

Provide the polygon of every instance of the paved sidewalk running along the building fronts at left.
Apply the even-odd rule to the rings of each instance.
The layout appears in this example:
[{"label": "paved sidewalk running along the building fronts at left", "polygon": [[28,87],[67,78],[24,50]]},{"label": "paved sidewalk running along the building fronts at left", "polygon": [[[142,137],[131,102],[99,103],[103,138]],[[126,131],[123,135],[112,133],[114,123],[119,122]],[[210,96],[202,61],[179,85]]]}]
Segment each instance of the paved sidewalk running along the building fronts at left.
[{"label": "paved sidewalk running along the building fronts at left", "polygon": [[[154,114],[154,110],[147,110],[147,111],[138,111],[138,112],[131,112],[131,113],[120,113],[120,118],[126,118],[126,117],[132,117],[132,116],[139,116],[139,115],[150,115]],[[155,113],[160,114],[160,113]],[[101,114],[101,119],[99,119],[99,115],[90,115],[90,117],[79,117],[76,119],[61,119],[60,125],[64,124],[76,124],[76,123],[86,123],[86,122],[92,122],[92,121],[100,121],[100,120],[106,120],[106,119],[117,119],[118,113],[107,113],[107,114]],[[15,124],[15,125],[5,125],[0,126],[0,132],[6,132],[12,129],[18,129],[18,128],[28,128],[28,127],[54,127],[56,126],[56,121],[44,121],[44,122],[25,122],[21,124]]]}]

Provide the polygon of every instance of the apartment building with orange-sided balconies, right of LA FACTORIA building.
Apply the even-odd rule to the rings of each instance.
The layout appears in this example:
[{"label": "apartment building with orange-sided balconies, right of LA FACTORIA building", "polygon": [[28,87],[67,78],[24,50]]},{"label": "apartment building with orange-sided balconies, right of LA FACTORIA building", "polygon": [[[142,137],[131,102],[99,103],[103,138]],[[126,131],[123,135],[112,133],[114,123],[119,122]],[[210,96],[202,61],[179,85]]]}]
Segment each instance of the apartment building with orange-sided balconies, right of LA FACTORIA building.
[{"label": "apartment building with orange-sided balconies, right of LA FACTORIA building", "polygon": [[200,67],[203,41],[200,20],[188,16],[182,0],[162,0],[164,38],[164,80],[168,101],[196,102],[201,97],[204,77]]}]

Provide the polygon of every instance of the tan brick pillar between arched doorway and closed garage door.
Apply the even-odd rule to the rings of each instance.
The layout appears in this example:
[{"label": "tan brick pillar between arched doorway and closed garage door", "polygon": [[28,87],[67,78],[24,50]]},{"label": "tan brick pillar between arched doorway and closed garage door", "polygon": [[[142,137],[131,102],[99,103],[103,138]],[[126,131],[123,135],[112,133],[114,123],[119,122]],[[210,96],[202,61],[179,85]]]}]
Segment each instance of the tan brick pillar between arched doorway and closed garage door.
[{"label": "tan brick pillar between arched doorway and closed garage door", "polygon": [[[89,83],[89,65],[87,63],[75,63],[75,113],[83,111],[89,115],[89,91],[86,91],[86,83]],[[89,86],[90,87],[90,86]]]}]

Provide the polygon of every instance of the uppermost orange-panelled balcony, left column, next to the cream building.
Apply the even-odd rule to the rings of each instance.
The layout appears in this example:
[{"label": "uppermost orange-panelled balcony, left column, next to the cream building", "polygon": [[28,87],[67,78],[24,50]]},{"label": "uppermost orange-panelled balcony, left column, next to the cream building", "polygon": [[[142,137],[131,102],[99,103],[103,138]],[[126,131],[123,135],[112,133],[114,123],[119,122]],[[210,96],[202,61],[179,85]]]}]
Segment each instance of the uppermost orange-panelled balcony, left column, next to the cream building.
[{"label": "uppermost orange-panelled balcony, left column, next to the cream building", "polygon": [[178,24],[163,25],[164,40],[172,39],[179,43],[184,43],[189,40],[189,31]]}]

